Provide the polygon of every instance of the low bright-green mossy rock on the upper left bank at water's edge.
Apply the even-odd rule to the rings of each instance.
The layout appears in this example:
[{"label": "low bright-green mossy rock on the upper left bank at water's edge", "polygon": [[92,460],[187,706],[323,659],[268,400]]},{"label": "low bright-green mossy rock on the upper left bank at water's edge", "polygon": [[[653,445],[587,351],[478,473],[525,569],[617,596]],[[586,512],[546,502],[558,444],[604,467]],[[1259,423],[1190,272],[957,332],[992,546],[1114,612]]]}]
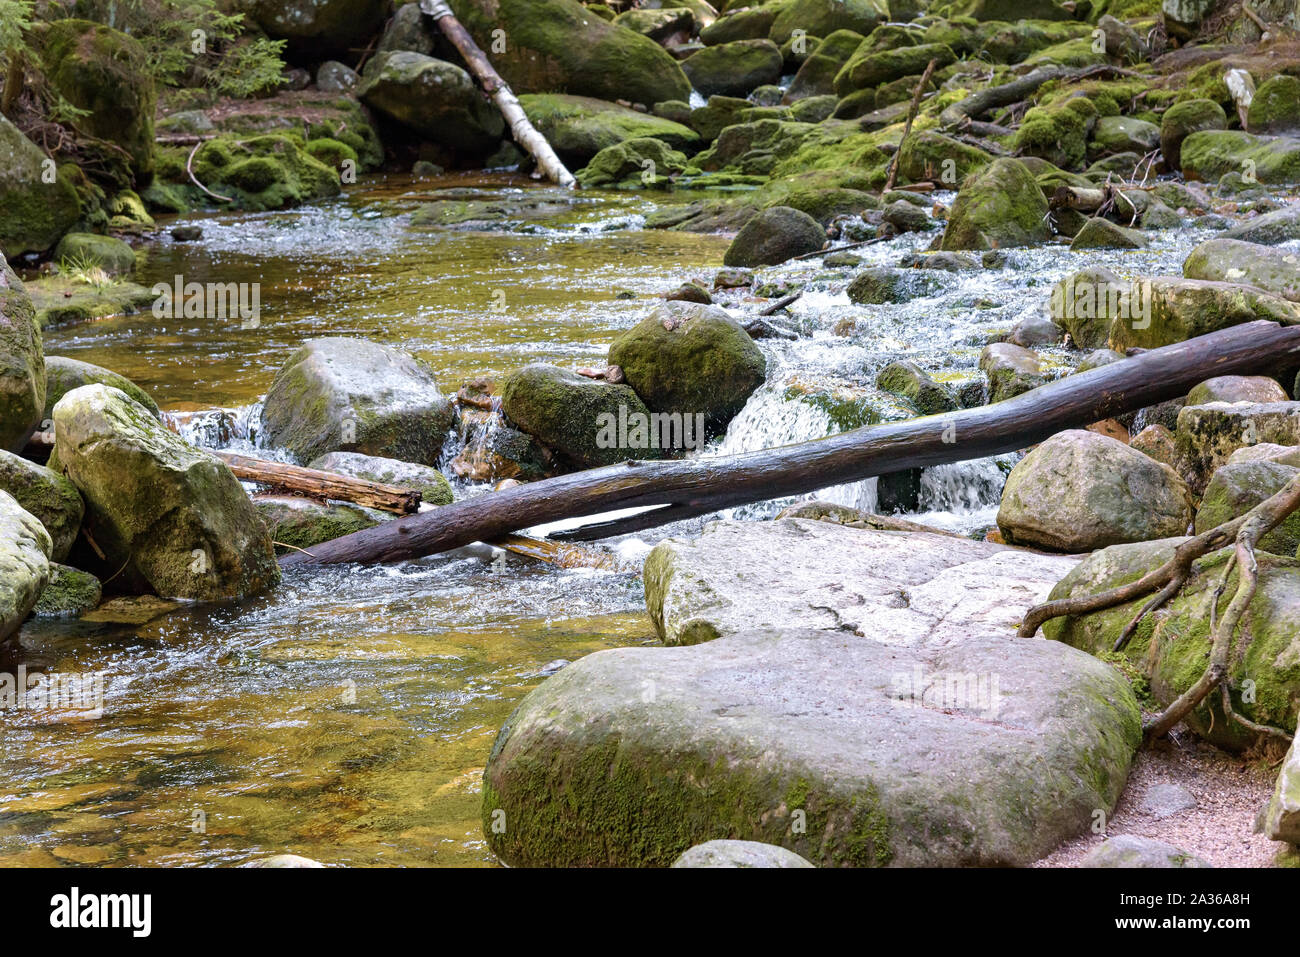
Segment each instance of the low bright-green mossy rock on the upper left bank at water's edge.
[{"label": "low bright-green mossy rock on the upper left bank at water's edge", "polygon": [[209,139],[194,153],[194,172],[244,209],[283,209],[339,192],[338,170],[303,148],[295,135]]}]

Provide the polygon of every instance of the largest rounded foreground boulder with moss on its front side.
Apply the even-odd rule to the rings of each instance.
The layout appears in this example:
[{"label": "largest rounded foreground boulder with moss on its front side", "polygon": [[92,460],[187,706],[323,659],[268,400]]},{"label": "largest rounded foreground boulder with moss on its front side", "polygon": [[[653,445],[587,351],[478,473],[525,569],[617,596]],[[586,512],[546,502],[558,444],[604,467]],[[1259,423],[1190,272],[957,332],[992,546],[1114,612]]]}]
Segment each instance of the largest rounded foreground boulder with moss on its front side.
[{"label": "largest rounded foreground boulder with moss on its front side", "polygon": [[[1138,705],[1084,654],[965,624],[941,649],[890,644],[876,622],[883,640],[788,625],[588,655],[498,735],[489,846],[511,866],[663,866],[723,837],[818,866],[1039,859],[1118,800]],[[939,693],[913,697],[927,676]],[[987,706],[941,690],[980,676]]]}]

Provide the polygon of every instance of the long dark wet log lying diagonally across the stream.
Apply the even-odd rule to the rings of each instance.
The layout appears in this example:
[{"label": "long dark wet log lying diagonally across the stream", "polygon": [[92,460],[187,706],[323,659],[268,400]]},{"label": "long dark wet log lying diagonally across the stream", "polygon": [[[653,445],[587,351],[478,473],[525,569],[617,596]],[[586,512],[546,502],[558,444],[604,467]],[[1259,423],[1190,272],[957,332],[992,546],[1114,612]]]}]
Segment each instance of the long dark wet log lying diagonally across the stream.
[{"label": "long dark wet log lying diagonally across the stream", "polygon": [[542,523],[658,506],[551,537],[584,541],[637,532],[905,468],[1015,451],[1062,429],[1179,398],[1214,376],[1260,373],[1297,359],[1300,326],[1245,322],[1067,376],[992,406],[742,455],[629,460],[517,485],[335,538],[316,546],[309,557],[286,555],[281,564],[400,562]]}]

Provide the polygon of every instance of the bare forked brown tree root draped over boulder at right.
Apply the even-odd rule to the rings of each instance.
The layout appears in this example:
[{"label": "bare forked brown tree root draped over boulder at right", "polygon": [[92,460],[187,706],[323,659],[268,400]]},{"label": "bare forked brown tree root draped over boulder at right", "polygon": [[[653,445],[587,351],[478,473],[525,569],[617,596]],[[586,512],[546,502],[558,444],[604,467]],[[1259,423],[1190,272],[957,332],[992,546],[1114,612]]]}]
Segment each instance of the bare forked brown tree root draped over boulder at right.
[{"label": "bare forked brown tree root draped over boulder at right", "polygon": [[[1144,724],[1143,737],[1147,744],[1164,737],[1174,726],[1205,701],[1212,690],[1221,688],[1223,714],[1230,720],[1264,737],[1290,741],[1291,735],[1280,728],[1258,724],[1245,715],[1238,714],[1232,709],[1231,696],[1223,679],[1227,677],[1228,662],[1232,657],[1232,637],[1258,586],[1260,570],[1254,550],[1258,546],[1260,538],[1277,528],[1297,507],[1300,507],[1300,476],[1292,478],[1277,494],[1266,498],[1245,515],[1188,538],[1174,550],[1173,558],[1158,568],[1147,572],[1136,581],[1130,581],[1126,585],[1119,585],[1093,596],[1058,598],[1057,601],[1034,606],[1024,615],[1019,636],[1032,637],[1037,632],[1039,625],[1053,618],[1063,615],[1078,616],[1102,611],[1117,605],[1136,601],[1154,592],[1156,594],[1150,601],[1143,605],[1141,610],[1134,615],[1132,620],[1119,633],[1114,644],[1114,650],[1118,651],[1128,644],[1139,623],[1148,614],[1165,605],[1187,584],[1187,580],[1192,575],[1192,564],[1199,558],[1221,549],[1228,542],[1234,542],[1235,547],[1223,566],[1223,573],[1208,597],[1206,614],[1210,620],[1209,664],[1191,688],[1179,694],[1161,714]],[[1219,618],[1218,603],[1227,590],[1227,584],[1234,570],[1238,571],[1236,590],[1232,593],[1223,616]]]}]

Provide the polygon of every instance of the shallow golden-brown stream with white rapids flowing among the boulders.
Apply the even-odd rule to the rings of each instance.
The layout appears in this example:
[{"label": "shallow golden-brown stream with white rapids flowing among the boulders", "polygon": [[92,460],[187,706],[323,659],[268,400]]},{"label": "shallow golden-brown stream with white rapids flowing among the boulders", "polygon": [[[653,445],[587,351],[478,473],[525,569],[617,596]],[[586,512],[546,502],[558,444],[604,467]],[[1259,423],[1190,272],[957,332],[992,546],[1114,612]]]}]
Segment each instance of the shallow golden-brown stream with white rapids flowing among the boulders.
[{"label": "shallow golden-brown stream with white rapids flowing among the boulders", "polygon": [[[545,187],[370,177],[318,207],[183,217],[203,239],[146,247],[135,281],[259,282],[257,328],[139,313],[47,330],[46,351],[133,378],[200,445],[272,455],[257,436],[259,402],[306,338],[398,345],[425,359],[447,393],[528,361],[603,364],[611,339],[654,296],[692,278],[711,285],[728,246],[642,228],[656,207],[694,195],[580,192],[540,224],[412,226],[411,212],[446,189],[491,198]],[[864,265],[893,264],[932,235],[855,252]],[[1131,252],[1010,251],[1002,269],[935,272],[933,294],[901,306],[850,304],[842,289],[853,269],[810,260],[760,270],[763,282],[811,281],[779,317],[800,338],[760,341],[767,384],[699,454],[831,434],[845,415],[902,417],[872,385],[887,363],[911,359],[961,385],[978,377],[991,332],[1045,308],[1066,273],[1176,273],[1208,235],[1152,233],[1150,248]],[[740,306],[732,315],[760,308]],[[852,335],[835,334],[841,320],[857,320]],[[1061,372],[1072,365],[1063,351],[1041,354]],[[1014,462],[927,469],[920,510],[906,518],[970,533],[991,525]],[[876,481],[818,497],[870,510]],[[766,519],[781,505],[731,514]],[[615,545],[640,557],[699,524]],[[656,640],[637,575],[559,570],[486,547],[393,567],[294,568],[274,592],[240,603],[94,618],[31,620],[0,661],[9,672],[105,674],[103,716],[0,711],[3,865],[229,866],[295,853],[326,865],[490,866],[481,771],[510,711],[567,661]]]}]

